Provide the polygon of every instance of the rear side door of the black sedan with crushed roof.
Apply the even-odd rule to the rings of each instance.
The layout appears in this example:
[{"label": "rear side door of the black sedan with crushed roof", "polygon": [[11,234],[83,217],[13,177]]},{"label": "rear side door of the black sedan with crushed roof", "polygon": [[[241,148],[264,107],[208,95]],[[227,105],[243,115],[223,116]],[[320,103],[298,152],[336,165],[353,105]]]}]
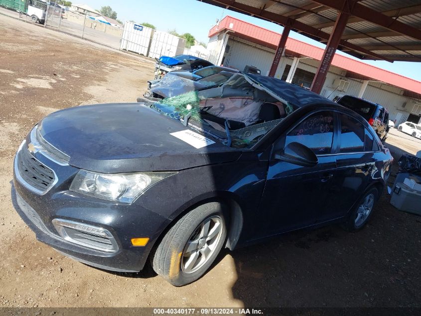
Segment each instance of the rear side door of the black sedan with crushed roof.
[{"label": "rear side door of the black sedan with crushed roof", "polygon": [[326,218],[345,216],[363,194],[375,168],[375,152],[380,150],[376,136],[359,120],[345,113],[338,114],[339,152]]}]

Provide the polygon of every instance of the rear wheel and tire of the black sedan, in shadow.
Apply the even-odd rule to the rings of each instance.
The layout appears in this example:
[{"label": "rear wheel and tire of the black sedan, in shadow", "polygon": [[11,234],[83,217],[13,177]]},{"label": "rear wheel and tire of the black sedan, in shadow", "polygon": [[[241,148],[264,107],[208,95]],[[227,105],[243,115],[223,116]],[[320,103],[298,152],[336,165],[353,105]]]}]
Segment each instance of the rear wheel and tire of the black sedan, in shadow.
[{"label": "rear wheel and tire of the black sedan, in shadow", "polygon": [[348,219],[343,225],[345,230],[356,232],[367,224],[373,214],[373,208],[379,199],[379,195],[379,190],[376,188],[371,188],[364,193],[349,213]]}]

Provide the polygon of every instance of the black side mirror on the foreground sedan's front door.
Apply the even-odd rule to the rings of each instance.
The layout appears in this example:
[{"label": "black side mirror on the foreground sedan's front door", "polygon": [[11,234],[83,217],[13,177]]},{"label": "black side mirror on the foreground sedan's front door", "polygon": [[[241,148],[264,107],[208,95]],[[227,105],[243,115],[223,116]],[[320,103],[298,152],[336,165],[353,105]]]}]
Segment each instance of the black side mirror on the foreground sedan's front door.
[{"label": "black side mirror on the foreground sedan's front door", "polygon": [[314,152],[297,142],[289,143],[283,151],[276,151],[274,158],[303,167],[314,167],[318,163]]}]

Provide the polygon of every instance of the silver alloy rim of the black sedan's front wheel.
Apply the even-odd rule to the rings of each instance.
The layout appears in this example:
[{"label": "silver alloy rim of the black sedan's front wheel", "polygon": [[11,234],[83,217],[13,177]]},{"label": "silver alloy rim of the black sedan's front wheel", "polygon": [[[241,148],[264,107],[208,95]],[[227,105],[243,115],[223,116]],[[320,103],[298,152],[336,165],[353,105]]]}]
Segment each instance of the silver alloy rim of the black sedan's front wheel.
[{"label": "silver alloy rim of the black sedan's front wheel", "polygon": [[221,239],[224,222],[218,215],[206,218],[194,230],[181,256],[181,270],[194,273],[208,262]]}]

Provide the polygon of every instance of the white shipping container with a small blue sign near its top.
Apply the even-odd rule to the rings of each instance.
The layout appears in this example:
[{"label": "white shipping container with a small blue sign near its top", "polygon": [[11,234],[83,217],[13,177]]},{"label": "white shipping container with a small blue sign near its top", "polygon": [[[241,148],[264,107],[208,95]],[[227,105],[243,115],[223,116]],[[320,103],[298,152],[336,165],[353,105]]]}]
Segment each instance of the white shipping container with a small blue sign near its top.
[{"label": "white shipping container with a small blue sign near its top", "polygon": [[120,49],[147,56],[153,32],[154,30],[150,27],[126,22],[120,40]]}]

